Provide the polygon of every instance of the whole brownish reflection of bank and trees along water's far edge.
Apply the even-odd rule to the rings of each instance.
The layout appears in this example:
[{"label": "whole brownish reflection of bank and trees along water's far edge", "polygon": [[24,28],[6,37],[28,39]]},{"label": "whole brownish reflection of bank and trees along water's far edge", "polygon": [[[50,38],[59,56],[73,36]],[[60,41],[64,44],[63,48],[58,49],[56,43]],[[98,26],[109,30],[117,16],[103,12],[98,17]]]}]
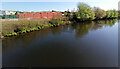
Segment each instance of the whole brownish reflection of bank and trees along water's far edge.
[{"label": "whole brownish reflection of bank and trees along water's far edge", "polygon": [[89,30],[97,30],[102,28],[103,26],[112,27],[116,22],[114,20],[99,20],[99,21],[90,21],[90,22],[82,22],[82,23],[73,23],[70,25],[59,26],[55,28],[46,28],[39,31],[34,31],[30,33],[21,34],[19,36],[10,37],[8,39],[3,39],[3,52],[14,50],[18,46],[26,47],[30,44],[34,43],[37,39],[43,38],[49,34],[60,34],[61,32],[75,32],[76,37],[82,37],[88,34]]}]

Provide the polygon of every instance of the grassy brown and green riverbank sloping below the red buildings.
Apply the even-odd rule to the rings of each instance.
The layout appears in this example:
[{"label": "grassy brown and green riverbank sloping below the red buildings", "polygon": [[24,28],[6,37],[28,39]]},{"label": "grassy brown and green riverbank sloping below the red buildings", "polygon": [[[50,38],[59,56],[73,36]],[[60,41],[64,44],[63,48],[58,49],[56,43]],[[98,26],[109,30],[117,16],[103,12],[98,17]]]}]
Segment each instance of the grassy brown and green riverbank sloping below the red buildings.
[{"label": "grassy brown and green riverbank sloping below the red buildings", "polygon": [[22,33],[29,33],[47,27],[56,27],[70,23],[66,18],[62,19],[19,19],[17,21],[3,21],[1,38],[16,36]]}]

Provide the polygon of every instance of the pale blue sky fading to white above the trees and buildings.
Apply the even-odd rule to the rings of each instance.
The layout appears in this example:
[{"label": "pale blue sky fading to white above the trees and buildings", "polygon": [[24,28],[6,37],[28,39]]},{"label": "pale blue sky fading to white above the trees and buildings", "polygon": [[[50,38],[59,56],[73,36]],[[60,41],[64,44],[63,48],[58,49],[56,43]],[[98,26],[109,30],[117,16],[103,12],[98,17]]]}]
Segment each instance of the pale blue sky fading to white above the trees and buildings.
[{"label": "pale blue sky fading to white above the trees and buildings", "polygon": [[91,7],[100,7],[104,10],[118,9],[119,0],[4,0],[2,1],[2,10],[10,11],[66,11],[77,9],[77,4],[84,2]]}]

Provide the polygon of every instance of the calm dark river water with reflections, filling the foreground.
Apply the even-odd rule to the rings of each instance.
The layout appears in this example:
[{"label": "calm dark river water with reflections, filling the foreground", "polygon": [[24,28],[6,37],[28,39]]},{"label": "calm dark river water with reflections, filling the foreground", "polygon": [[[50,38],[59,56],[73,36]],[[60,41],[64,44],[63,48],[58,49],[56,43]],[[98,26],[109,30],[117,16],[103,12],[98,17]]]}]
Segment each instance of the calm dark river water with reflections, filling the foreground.
[{"label": "calm dark river water with reflections, filling the foreground", "polygon": [[3,39],[3,67],[117,67],[118,22],[81,22]]}]

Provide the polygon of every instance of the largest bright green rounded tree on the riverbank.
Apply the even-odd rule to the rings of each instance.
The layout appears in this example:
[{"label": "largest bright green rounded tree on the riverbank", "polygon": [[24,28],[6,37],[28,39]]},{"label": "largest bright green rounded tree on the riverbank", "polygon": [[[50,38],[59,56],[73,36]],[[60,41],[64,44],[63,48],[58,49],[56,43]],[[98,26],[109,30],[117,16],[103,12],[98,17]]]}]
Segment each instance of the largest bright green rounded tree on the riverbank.
[{"label": "largest bright green rounded tree on the riverbank", "polygon": [[77,18],[84,20],[93,20],[95,19],[95,12],[91,9],[91,7],[85,3],[78,4],[78,12],[76,13]]}]

